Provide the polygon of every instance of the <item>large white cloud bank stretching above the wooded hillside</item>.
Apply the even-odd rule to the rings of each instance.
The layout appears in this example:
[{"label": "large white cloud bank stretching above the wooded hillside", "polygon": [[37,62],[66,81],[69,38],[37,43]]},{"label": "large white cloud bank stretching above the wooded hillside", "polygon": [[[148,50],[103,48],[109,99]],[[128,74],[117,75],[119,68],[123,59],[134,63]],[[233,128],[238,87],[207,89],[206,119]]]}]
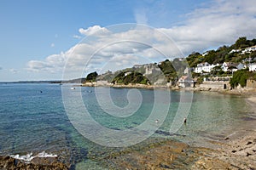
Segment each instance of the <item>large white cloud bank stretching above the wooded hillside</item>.
[{"label": "large white cloud bank stretching above the wooded hillside", "polygon": [[[80,71],[79,74],[81,71],[101,70],[102,67],[114,71],[136,64],[141,58],[157,62],[163,60],[164,55],[168,58],[183,57],[183,54],[193,51],[203,52],[207,48],[231,44],[238,37],[255,38],[256,6],[253,1],[219,0],[207,5],[187,14],[183,26],[80,28],[79,32],[88,36],[87,39],[61,54],[50,55],[41,61],[29,61],[28,70],[61,73],[66,65],[67,71]],[[147,12],[137,12],[137,22],[146,22]]]}]

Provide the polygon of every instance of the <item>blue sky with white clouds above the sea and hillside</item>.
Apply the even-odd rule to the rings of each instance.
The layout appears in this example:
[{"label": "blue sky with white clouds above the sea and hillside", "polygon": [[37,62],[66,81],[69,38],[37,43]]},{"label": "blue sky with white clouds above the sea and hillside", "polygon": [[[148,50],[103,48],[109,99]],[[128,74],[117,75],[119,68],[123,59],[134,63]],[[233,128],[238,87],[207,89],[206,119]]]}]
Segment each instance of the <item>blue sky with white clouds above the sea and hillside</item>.
[{"label": "blue sky with white clouds above the sea and hillside", "polygon": [[255,31],[254,0],[1,0],[0,82],[116,71]]}]

